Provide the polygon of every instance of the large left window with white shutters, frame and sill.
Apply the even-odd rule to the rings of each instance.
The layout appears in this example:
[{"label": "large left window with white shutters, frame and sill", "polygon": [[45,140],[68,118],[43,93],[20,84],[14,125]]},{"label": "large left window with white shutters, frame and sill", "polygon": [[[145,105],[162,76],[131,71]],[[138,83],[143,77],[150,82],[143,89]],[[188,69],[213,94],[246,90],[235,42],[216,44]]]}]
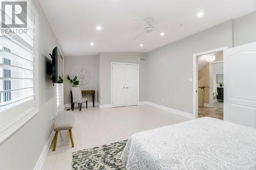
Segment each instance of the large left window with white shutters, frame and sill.
[{"label": "large left window with white shutters, frame and sill", "polygon": [[[5,23],[13,23],[16,5],[8,2]],[[14,3],[14,4],[12,4]],[[0,143],[23,126],[39,109],[38,102],[38,13],[27,1],[27,27],[3,27],[0,17]],[[16,12],[15,12],[16,15]],[[14,15],[13,15],[14,16]],[[14,17],[23,21],[24,16]],[[26,17],[26,16],[25,16]],[[16,21],[15,21],[16,24]],[[6,25],[7,26],[7,25]]]}]

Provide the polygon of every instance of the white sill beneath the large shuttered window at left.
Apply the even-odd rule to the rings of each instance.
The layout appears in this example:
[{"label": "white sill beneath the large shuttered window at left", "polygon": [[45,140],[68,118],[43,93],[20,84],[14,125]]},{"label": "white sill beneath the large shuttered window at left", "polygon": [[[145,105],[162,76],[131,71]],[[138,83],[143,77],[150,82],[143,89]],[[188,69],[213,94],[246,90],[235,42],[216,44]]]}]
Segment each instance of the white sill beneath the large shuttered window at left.
[{"label": "white sill beneath the large shuttered window at left", "polygon": [[0,126],[0,144],[6,141],[14,132],[19,130],[20,127],[25,125],[32,117],[34,117],[39,110],[31,108],[28,111],[19,114],[11,119],[8,123]]}]

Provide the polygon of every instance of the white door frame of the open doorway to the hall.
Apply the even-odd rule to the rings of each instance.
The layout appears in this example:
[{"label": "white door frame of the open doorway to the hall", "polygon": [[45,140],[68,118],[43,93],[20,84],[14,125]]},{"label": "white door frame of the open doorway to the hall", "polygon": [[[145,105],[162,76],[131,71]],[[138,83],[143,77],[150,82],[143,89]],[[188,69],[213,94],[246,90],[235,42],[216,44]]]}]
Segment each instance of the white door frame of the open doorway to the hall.
[{"label": "white door frame of the open doorway to the hall", "polygon": [[[198,56],[224,51],[228,46],[193,54],[193,118],[198,118]],[[224,53],[223,53],[224,58]],[[224,62],[223,62],[224,63]],[[212,72],[212,69],[210,70]],[[212,80],[210,80],[210,83]],[[212,83],[211,83],[212,84]],[[210,87],[209,87],[210,88]],[[212,89],[210,88],[210,91]],[[210,98],[211,95],[209,95]],[[213,101],[213,100],[212,100]]]}]

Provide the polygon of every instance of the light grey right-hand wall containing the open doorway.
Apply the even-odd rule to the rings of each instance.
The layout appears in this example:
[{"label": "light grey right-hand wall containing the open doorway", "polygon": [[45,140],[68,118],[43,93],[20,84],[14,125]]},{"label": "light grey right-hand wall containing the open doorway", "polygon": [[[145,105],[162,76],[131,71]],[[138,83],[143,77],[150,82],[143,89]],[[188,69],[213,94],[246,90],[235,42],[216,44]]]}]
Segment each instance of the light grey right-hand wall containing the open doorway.
[{"label": "light grey right-hand wall containing the open doorway", "polygon": [[255,20],[253,12],[147,53],[147,101],[192,114],[193,54],[256,41]]}]

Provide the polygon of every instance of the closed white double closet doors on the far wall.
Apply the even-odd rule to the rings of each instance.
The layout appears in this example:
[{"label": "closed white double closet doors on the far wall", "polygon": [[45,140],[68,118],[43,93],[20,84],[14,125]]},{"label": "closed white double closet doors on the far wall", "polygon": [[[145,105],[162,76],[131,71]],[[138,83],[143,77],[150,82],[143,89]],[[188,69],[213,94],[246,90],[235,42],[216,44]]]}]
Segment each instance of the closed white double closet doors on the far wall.
[{"label": "closed white double closet doors on the far wall", "polygon": [[112,63],[112,107],[132,106],[138,104],[137,64]]}]

